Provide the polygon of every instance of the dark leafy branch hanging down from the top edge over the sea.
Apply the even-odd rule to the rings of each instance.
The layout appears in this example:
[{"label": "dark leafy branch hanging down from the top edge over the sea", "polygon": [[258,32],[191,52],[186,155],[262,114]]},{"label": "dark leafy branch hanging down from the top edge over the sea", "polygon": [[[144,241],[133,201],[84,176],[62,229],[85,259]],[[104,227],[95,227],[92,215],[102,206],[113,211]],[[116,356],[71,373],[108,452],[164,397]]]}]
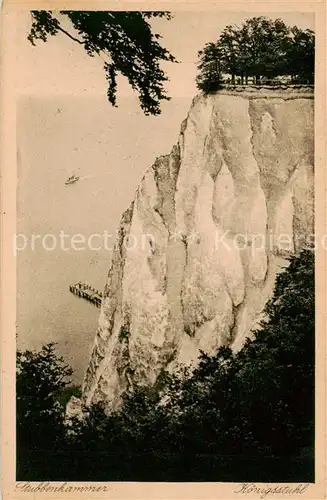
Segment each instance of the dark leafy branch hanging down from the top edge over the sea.
[{"label": "dark leafy branch hanging down from the top edge over the sea", "polygon": [[[32,26],[28,36],[47,41],[48,36],[63,33],[84,47],[89,56],[104,60],[108,82],[109,102],[116,105],[117,76],[127,78],[138,93],[145,114],[160,114],[160,103],[168,100],[164,90],[167,76],[160,68],[162,61],[176,62],[159,43],[160,35],[153,33],[147,22],[153,17],[171,19],[168,12],[121,11],[31,11]],[[71,28],[66,28],[65,18]]]}]

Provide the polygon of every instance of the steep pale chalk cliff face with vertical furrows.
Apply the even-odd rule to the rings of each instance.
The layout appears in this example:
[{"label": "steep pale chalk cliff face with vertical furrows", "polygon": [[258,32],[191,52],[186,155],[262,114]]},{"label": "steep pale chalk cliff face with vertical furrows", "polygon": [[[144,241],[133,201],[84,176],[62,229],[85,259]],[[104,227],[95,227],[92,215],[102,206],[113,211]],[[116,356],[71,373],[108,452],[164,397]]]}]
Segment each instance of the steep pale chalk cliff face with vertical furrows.
[{"label": "steep pale chalk cliff face with vertical furrows", "polygon": [[121,219],[84,404],[115,407],[200,349],[241,348],[282,257],[313,234],[312,97],[194,99]]}]

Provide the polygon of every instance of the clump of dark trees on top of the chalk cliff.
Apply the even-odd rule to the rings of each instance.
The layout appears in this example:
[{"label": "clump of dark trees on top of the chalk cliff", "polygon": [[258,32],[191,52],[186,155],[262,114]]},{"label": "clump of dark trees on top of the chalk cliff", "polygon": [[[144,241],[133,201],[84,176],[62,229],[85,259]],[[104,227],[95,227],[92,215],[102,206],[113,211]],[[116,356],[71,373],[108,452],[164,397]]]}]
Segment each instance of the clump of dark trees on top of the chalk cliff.
[{"label": "clump of dark trees on top of the chalk cliff", "polygon": [[[199,52],[198,88],[205,93],[230,74],[248,83],[254,77],[268,79],[288,75],[311,83],[314,80],[314,32],[288,27],[281,19],[253,17],[241,27],[227,26],[215,43]],[[219,76],[209,68],[219,68]]]}]

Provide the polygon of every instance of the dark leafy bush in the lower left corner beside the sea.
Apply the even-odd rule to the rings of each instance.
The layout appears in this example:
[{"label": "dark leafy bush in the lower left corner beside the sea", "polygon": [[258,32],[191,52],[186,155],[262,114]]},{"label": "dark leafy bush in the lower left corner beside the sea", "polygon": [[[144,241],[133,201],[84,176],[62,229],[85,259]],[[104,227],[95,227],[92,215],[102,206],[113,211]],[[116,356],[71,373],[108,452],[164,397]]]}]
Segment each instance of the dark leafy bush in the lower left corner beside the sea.
[{"label": "dark leafy bush in the lower left corner beside the sea", "polygon": [[[16,436],[18,465],[22,471],[28,453],[46,448],[55,452],[65,443],[64,408],[60,393],[72,374],[49,343],[39,352],[18,351],[16,362]],[[26,455],[27,454],[27,455]],[[25,463],[29,467],[33,464]]]}]

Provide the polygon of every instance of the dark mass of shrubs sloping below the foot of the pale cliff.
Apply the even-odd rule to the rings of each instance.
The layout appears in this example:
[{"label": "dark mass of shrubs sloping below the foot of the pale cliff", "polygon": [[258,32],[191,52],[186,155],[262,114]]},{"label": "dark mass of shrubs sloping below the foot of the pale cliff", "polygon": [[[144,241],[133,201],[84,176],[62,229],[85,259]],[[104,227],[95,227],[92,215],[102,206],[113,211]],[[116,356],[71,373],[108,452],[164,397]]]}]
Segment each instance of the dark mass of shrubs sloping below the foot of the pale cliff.
[{"label": "dark mass of shrubs sloping below the foot of the pale cliff", "polygon": [[[239,353],[222,347],[214,356],[202,353],[193,372],[163,372],[154,387],[126,395],[119,412],[93,406],[64,443],[58,414],[38,413],[37,396],[28,392],[32,425],[54,422],[47,440],[61,450],[54,444],[48,460],[42,439],[30,436],[33,456],[49,466],[30,467],[27,475],[20,464],[18,479],[313,481],[312,251],[290,259],[265,312],[268,319]],[[30,416],[19,411],[18,419],[25,428]]]}]

